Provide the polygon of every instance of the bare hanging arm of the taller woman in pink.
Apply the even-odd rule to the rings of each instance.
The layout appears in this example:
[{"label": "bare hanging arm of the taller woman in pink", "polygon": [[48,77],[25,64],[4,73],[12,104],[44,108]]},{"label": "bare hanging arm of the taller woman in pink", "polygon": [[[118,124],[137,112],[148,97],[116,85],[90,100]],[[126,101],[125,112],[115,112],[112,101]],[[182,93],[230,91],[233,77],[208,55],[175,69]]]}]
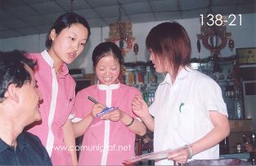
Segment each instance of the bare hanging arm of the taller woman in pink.
[{"label": "bare hanging arm of the taller woman in pink", "polygon": [[[75,139],[74,139],[74,130],[72,127],[71,119],[67,119],[64,126],[62,127],[64,143],[65,146],[69,148],[73,165],[78,165],[78,159],[75,150]],[[73,147],[73,148],[71,148]]]}]

